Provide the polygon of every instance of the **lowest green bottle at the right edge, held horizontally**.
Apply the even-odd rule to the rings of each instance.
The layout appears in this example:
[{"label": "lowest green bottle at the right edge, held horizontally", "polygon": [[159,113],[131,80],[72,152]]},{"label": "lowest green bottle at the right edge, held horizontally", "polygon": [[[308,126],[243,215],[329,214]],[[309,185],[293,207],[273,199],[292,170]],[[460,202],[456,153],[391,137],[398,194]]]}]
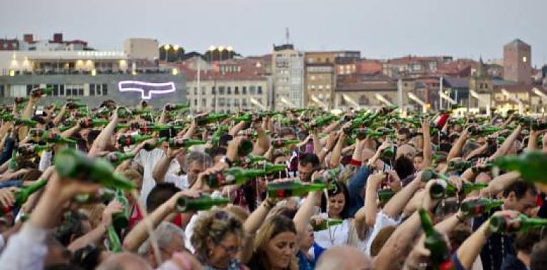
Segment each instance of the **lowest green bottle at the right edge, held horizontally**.
[{"label": "lowest green bottle at the right edge, held horizontally", "polygon": [[531,218],[521,214],[515,219],[494,215],[490,217],[490,229],[500,234],[511,234],[514,232],[526,232],[531,228],[547,227],[547,219]]}]

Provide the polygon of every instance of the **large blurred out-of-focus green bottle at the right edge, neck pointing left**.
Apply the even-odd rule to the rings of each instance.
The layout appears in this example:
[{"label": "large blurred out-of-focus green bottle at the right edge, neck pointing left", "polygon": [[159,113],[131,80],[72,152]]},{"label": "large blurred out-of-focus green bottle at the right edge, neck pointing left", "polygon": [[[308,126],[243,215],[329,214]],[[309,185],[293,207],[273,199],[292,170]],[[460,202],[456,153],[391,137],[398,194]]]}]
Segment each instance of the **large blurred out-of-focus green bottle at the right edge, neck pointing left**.
[{"label": "large blurred out-of-focus green bottle at the right edge, neck pointing left", "polygon": [[519,171],[524,180],[547,183],[547,153],[529,151],[519,156],[501,156],[494,164],[504,171]]}]

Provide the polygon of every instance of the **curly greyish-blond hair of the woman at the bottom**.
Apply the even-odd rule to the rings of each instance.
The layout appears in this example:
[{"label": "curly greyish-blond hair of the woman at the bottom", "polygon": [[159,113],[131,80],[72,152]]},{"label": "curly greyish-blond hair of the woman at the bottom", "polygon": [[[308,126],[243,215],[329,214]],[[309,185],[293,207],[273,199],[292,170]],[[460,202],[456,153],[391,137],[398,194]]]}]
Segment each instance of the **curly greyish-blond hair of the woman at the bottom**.
[{"label": "curly greyish-blond hair of the woman at the bottom", "polygon": [[243,238],[243,225],[239,217],[226,210],[202,212],[197,217],[194,233],[190,237],[197,258],[205,260],[209,256],[208,241],[220,243],[230,233],[236,234],[239,239]]}]

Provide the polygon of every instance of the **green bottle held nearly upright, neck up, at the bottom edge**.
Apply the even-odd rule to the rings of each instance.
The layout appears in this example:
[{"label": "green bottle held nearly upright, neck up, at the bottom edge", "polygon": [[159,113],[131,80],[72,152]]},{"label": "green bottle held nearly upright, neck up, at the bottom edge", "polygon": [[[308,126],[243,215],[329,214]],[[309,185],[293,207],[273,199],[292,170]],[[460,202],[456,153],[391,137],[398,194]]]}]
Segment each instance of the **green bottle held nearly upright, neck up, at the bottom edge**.
[{"label": "green bottle held nearly upright, neck up, at the bottom edge", "polygon": [[445,241],[445,238],[442,234],[435,230],[433,227],[433,222],[429,217],[429,214],[426,210],[418,210],[420,215],[420,220],[422,223],[423,232],[426,234],[426,239],[423,242],[424,247],[430,251],[430,259],[433,264],[433,269],[451,269],[449,266],[452,262],[450,261],[450,249],[448,243]]}]

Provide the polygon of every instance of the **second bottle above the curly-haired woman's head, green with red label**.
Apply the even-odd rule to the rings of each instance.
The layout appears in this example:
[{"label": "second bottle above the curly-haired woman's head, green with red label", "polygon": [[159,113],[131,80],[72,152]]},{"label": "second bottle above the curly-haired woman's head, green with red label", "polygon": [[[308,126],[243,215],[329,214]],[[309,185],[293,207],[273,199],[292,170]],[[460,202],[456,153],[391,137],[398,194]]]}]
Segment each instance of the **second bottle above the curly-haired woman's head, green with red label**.
[{"label": "second bottle above the curly-haired woman's head, green with red label", "polygon": [[248,180],[265,174],[266,171],[260,169],[232,167],[207,175],[205,182],[210,188],[218,188],[224,185],[242,185]]}]

